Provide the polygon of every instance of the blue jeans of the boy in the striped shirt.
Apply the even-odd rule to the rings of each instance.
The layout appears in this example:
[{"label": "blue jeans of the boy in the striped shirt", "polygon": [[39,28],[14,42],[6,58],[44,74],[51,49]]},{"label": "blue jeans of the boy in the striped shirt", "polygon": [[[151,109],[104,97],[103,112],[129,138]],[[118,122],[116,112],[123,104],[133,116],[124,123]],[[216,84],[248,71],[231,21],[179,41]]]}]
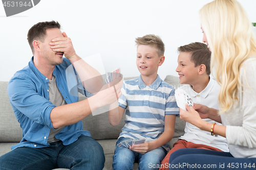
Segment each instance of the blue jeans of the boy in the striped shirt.
[{"label": "blue jeans of the boy in the striped shirt", "polygon": [[[120,137],[116,144],[129,138]],[[140,154],[129,148],[119,147],[116,145],[115,155],[113,156],[113,170],[133,169],[134,162],[139,163],[139,169],[158,169],[162,159],[166,156],[167,151],[159,147],[145,154]]]}]

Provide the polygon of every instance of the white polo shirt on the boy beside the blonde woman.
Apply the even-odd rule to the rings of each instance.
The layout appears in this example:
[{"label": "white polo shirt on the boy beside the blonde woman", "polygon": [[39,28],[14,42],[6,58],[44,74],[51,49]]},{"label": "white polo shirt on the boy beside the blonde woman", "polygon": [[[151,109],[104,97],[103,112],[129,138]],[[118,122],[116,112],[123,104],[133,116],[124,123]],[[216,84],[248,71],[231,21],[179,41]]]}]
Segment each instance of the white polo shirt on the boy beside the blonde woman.
[{"label": "white polo shirt on the boy beside the blonde woman", "polygon": [[[211,77],[208,85],[200,93],[194,91],[193,87],[188,84],[181,86],[180,88],[186,91],[191,96],[194,103],[219,110],[218,95],[220,91],[220,85]],[[205,118],[203,120],[208,123],[215,122],[214,120],[211,120],[209,118]],[[216,124],[222,125],[218,122],[216,122]],[[185,134],[179,139],[183,139],[196,144],[209,145],[210,147],[215,147],[224,152],[228,152],[228,145],[225,137],[222,137],[220,135],[218,135],[218,137],[211,136],[210,132],[200,130],[198,127],[191,125],[187,122],[185,126]]]}]

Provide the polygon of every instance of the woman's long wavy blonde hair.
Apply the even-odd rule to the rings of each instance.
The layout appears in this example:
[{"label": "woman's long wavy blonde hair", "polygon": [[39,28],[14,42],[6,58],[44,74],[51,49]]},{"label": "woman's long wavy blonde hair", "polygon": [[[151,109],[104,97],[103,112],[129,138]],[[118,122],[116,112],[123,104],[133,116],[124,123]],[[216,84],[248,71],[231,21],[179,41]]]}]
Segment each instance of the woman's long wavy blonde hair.
[{"label": "woman's long wavy blonde hair", "polygon": [[[252,23],[236,0],[216,0],[200,10],[202,29],[211,49],[211,71],[221,84],[220,113],[238,101],[243,62],[256,53]],[[213,71],[212,71],[213,72]]]}]

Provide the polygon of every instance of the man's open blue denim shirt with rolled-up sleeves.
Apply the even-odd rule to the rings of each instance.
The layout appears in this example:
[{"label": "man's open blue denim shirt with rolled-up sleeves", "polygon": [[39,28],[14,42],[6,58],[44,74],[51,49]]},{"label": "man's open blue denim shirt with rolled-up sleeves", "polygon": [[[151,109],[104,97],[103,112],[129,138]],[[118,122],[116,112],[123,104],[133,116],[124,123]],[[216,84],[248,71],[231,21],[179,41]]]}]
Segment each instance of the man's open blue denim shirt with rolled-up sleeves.
[{"label": "man's open blue denim shirt with rolled-up sleeves", "polygon": [[[68,67],[71,69],[68,69]],[[71,74],[67,70],[71,70]],[[66,77],[67,74],[69,76]],[[79,89],[81,93],[87,96],[90,95],[83,88],[74,67],[67,58],[63,58],[62,64],[55,66],[53,75],[67,104],[78,102]],[[50,113],[56,106],[49,101],[48,82],[47,77],[42,75],[35,67],[33,57],[28,66],[17,71],[11,78],[8,84],[9,100],[23,130],[22,140],[14,145],[12,150],[18,147],[42,148],[50,145],[47,139],[50,129],[54,129]],[[71,89],[72,95],[70,94]],[[62,140],[64,145],[68,145],[76,141],[80,135],[91,136],[89,131],[83,130],[81,121],[66,126],[55,137]]]}]

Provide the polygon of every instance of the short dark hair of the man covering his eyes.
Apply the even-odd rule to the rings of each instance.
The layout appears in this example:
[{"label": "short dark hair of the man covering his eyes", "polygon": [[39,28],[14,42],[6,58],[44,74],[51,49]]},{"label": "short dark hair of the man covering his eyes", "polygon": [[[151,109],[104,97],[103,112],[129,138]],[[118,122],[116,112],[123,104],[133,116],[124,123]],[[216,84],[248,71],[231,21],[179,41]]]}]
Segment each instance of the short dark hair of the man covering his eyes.
[{"label": "short dark hair of the man covering his eyes", "polygon": [[55,21],[46,21],[36,23],[28,32],[28,41],[32,52],[34,53],[33,41],[39,40],[41,42],[45,41],[46,30],[58,28],[60,29],[60,24]]}]

